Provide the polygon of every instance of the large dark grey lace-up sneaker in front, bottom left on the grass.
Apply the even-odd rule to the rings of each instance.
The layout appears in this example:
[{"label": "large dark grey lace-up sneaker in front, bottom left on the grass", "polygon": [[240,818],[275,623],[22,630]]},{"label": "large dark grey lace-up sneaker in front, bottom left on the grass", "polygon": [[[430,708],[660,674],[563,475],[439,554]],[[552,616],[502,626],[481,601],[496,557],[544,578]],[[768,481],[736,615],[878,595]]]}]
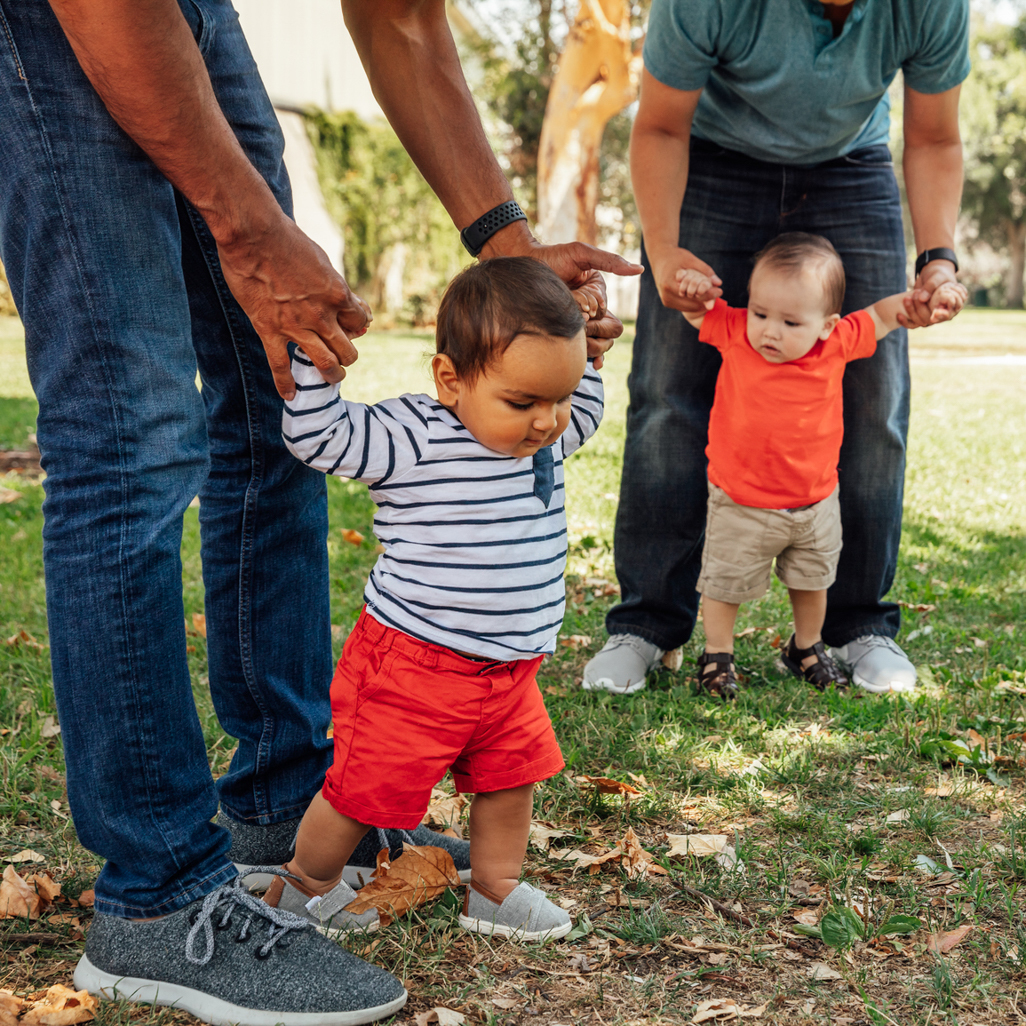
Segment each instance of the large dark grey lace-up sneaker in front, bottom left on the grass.
[{"label": "large dark grey lace-up sneaker in front, bottom left on the grass", "polygon": [[240,880],[160,919],[93,916],[75,987],[171,1005],[213,1026],[356,1026],[406,1003],[390,973],[265,905]]}]

